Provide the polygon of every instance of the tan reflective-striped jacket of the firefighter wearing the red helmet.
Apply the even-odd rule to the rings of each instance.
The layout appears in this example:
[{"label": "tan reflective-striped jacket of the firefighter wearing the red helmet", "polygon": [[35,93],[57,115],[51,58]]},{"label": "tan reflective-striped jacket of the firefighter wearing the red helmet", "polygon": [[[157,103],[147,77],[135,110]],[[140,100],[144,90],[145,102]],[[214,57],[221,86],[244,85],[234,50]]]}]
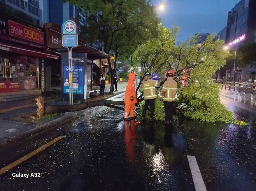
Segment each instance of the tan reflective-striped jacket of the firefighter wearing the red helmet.
[{"label": "tan reflective-striped jacket of the firefighter wearing the red helmet", "polygon": [[178,84],[173,79],[173,77],[168,77],[165,83],[163,84],[162,90],[159,94],[160,98],[162,98],[163,101],[168,101],[168,102],[175,101],[177,86]]}]

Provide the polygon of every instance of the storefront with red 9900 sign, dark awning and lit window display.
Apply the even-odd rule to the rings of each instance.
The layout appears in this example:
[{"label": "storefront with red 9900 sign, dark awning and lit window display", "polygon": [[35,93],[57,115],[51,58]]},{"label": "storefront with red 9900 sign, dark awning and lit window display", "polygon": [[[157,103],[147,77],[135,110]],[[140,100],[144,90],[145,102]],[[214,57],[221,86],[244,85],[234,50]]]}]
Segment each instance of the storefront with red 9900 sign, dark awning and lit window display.
[{"label": "storefront with red 9900 sign, dark awning and lit window display", "polygon": [[44,93],[46,60],[59,55],[46,50],[43,28],[8,14],[0,21],[0,96]]}]

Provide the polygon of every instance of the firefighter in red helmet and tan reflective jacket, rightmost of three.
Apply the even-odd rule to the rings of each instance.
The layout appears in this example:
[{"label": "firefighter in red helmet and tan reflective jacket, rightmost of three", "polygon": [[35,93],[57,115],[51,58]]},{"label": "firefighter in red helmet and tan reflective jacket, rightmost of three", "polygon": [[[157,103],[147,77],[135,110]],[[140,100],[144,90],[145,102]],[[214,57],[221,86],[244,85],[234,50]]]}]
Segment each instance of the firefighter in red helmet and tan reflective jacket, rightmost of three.
[{"label": "firefighter in red helmet and tan reflective jacket, rightmost of three", "polygon": [[167,80],[163,84],[162,90],[159,94],[165,104],[165,124],[172,123],[173,107],[175,95],[177,92],[177,82],[174,80],[174,71],[169,70],[166,74]]}]

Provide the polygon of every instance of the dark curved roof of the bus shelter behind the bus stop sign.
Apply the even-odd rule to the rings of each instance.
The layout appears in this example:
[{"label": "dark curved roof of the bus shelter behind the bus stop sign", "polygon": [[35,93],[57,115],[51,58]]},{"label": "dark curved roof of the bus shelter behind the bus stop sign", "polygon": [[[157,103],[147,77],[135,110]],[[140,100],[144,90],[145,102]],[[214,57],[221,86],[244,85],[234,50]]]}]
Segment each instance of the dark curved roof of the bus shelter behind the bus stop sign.
[{"label": "dark curved roof of the bus shelter behind the bus stop sign", "polygon": [[[63,49],[58,49],[61,52],[67,51],[66,48]],[[86,53],[87,54],[87,59],[89,60],[97,60],[97,59],[104,59],[104,58],[110,58],[110,55],[102,52],[98,49],[95,49],[90,46],[85,46],[85,47],[75,47],[72,49],[72,52],[78,52],[78,53]]]}]

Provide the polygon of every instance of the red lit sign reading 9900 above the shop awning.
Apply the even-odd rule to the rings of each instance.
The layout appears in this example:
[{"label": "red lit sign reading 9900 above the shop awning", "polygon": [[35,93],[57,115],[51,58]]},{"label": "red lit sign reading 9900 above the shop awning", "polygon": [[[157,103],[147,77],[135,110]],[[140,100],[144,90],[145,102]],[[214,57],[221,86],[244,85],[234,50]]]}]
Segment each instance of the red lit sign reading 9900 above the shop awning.
[{"label": "red lit sign reading 9900 above the shop awning", "polygon": [[44,44],[44,33],[9,20],[9,35]]}]

